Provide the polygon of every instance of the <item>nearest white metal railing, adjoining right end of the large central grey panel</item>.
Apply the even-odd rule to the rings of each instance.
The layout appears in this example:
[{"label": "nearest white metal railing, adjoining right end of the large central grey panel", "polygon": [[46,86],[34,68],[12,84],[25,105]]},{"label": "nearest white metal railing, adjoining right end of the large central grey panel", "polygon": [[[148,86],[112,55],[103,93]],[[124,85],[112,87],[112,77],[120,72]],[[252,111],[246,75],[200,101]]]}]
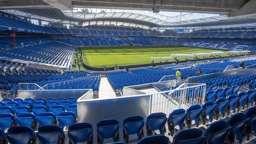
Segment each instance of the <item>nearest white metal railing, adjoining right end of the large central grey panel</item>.
[{"label": "nearest white metal railing, adjoining right end of the large central grey panel", "polygon": [[150,113],[169,115],[175,109],[205,102],[206,84],[182,84],[179,88],[150,95]]}]

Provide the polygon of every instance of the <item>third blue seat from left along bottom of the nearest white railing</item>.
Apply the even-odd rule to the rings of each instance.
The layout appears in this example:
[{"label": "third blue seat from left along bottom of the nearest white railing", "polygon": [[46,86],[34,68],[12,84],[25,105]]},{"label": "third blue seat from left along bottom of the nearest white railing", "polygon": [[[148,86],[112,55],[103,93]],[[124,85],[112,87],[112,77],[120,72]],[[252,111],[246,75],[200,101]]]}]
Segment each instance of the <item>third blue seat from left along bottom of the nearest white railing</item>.
[{"label": "third blue seat from left along bottom of the nearest white railing", "polygon": [[199,126],[199,122],[201,121],[200,115],[204,109],[201,108],[199,104],[192,105],[190,106],[187,110],[186,113],[188,113],[185,122],[186,125],[191,128],[192,121],[195,120],[195,123],[197,124],[197,127]]}]

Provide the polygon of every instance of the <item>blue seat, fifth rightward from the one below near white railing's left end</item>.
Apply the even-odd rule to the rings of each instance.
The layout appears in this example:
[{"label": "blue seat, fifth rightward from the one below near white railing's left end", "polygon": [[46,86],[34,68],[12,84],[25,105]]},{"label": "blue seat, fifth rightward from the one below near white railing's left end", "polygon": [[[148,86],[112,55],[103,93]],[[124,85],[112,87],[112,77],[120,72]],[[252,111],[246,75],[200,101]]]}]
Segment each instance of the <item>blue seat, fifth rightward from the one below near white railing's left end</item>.
[{"label": "blue seat, fifth rightward from the one below near white railing's left end", "polygon": [[218,98],[215,102],[218,104],[217,109],[216,109],[216,119],[218,120],[220,113],[222,117],[225,116],[225,113],[230,113],[230,105],[229,105],[229,100],[227,100],[225,97]]}]

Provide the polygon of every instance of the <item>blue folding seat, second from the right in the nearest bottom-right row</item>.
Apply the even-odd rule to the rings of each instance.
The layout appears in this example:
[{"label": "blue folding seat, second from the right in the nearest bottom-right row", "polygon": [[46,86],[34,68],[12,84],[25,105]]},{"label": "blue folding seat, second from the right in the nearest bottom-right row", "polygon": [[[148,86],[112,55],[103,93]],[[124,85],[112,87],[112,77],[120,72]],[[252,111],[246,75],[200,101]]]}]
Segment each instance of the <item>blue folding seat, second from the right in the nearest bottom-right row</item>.
[{"label": "blue folding seat, second from the right in the nearest bottom-right row", "polygon": [[[243,137],[249,136],[251,133],[251,127],[246,127],[246,125],[250,125],[249,122],[250,118],[245,119],[245,114],[239,112],[231,115],[230,119],[227,121],[226,127],[232,127],[231,130],[233,134],[241,143]],[[234,140],[234,136],[232,140]],[[232,143],[232,141],[230,142]]]}]

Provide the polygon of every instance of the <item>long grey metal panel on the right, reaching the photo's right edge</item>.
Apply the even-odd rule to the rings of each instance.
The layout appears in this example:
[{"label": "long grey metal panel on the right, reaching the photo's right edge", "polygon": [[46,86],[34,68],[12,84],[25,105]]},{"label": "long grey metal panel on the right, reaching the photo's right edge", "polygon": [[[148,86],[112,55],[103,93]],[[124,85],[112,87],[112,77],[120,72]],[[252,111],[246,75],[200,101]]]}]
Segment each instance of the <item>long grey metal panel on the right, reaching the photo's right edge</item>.
[{"label": "long grey metal panel on the right, reaching the photo's right edge", "polygon": [[198,83],[198,81],[213,79],[216,77],[223,77],[223,76],[230,77],[230,76],[239,75],[239,74],[243,75],[243,77],[246,77],[256,73],[256,70],[250,70],[250,69],[234,70],[234,71],[232,70],[231,72],[230,71],[218,72],[213,74],[205,74],[205,75],[196,76],[196,77],[189,77],[188,83]]}]

